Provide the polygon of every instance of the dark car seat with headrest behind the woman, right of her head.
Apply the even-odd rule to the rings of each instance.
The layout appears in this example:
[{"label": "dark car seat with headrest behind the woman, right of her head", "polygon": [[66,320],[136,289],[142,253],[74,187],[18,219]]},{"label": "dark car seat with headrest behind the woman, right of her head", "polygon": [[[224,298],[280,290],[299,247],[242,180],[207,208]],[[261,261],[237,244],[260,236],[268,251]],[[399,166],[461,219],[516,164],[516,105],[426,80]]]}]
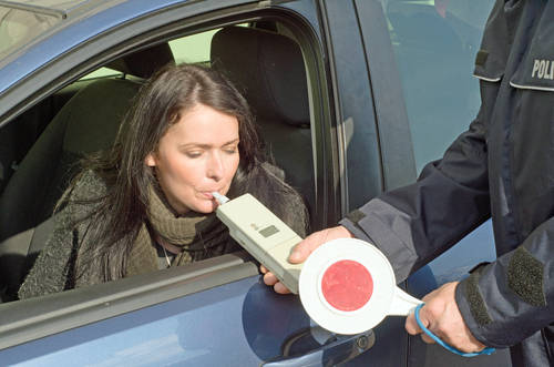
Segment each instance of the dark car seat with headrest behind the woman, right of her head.
[{"label": "dark car seat with headrest behind the woman, right of her head", "polygon": [[224,73],[244,93],[269,155],[312,213],[309,102],[298,44],[267,30],[226,27],[212,39],[211,62],[213,69]]}]

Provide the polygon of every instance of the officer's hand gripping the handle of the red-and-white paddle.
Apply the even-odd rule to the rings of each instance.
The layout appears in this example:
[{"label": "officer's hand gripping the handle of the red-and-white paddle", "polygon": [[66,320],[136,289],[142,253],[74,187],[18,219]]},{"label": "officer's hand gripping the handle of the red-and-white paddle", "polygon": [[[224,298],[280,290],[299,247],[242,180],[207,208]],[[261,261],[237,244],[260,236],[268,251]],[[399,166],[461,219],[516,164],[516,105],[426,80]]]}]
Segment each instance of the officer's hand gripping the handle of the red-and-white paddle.
[{"label": "officer's hand gripping the handle of the red-and-white paddle", "polygon": [[[447,283],[424,296],[425,305],[420,309],[420,320],[428,329],[454,348],[464,353],[480,351],[485,346],[475,339],[465,326],[454,298],[456,285],[458,282]],[[406,330],[410,335],[421,334],[425,343],[434,343],[418,326],[413,313],[406,318]]]}]

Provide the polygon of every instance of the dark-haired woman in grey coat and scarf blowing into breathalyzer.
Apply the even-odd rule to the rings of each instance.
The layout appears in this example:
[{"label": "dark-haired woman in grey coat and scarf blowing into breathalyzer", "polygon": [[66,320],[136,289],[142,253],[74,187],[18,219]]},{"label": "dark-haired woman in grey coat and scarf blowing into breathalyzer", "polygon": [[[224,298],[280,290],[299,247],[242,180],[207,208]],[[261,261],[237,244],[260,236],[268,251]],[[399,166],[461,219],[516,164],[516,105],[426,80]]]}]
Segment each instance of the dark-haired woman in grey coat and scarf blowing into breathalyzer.
[{"label": "dark-haired woman in grey coat and scarf blowing into breathalyzer", "polygon": [[84,162],[19,290],[28,298],[238,249],[212,192],[252,193],[299,235],[300,196],[265,162],[249,108],[217,72],[167,67],[141,89],[114,147]]}]

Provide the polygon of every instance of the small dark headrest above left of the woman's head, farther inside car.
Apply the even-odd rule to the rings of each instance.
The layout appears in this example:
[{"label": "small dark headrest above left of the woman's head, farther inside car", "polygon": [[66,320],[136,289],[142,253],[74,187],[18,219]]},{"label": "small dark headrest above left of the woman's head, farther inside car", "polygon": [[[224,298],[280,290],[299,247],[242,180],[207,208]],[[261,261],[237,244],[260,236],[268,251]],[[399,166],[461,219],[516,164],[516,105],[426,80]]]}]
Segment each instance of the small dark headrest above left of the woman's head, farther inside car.
[{"label": "small dark headrest above left of the woman's head, farther inside car", "polygon": [[175,63],[170,44],[160,43],[114,60],[106,67],[125,74],[148,79],[168,63]]}]

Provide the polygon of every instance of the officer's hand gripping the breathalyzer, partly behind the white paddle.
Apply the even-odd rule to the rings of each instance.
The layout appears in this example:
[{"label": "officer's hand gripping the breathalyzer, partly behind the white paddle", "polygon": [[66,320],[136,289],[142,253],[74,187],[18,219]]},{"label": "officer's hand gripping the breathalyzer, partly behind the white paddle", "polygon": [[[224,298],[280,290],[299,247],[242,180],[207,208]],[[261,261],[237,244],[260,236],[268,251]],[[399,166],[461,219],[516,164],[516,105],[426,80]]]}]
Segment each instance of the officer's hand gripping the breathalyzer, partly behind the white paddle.
[{"label": "officer's hand gripping the breathalyzer, partly behind the white paddle", "polygon": [[[352,234],[341,225],[319,232],[314,232],[295,246],[295,248],[290,253],[290,256],[288,257],[288,262],[291,264],[304,263],[317,247],[321,246],[326,242],[337,238],[351,237],[353,237]],[[264,265],[261,265],[259,269],[264,274],[264,283],[268,286],[273,286],[276,293],[290,293],[290,290],[283,283],[280,283],[279,279],[277,279],[277,277]]]}]

